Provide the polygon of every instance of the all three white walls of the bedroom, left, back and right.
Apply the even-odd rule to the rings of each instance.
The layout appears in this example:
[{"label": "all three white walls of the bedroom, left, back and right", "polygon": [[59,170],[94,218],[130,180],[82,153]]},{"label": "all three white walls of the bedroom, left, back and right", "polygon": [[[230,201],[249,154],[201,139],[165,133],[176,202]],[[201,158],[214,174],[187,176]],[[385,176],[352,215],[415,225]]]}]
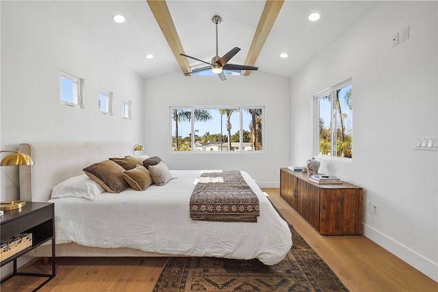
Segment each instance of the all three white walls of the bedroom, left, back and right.
[{"label": "all three white walls of the bedroom, left, back and right", "polygon": [[[361,185],[364,202],[378,204],[378,215],[364,214],[365,236],[438,280],[438,155],[413,150],[415,135],[438,135],[437,2],[383,1],[292,83],[263,72],[224,82],[174,72],[147,79],[144,88],[50,2],[0,5],[1,150],[23,142],[143,142],[170,168],[239,168],[262,187],[278,187],[280,167],[304,164],[312,154],[311,96],[351,77],[354,158],[322,160],[321,171]],[[391,47],[406,25],[410,39]],[[85,109],[60,104],[62,69],[86,80]],[[114,116],[97,110],[99,87],[114,92]],[[133,101],[133,120],[120,118],[123,98]],[[266,152],[170,154],[171,105],[265,105]],[[18,170],[0,172],[0,199],[18,198]]]}]

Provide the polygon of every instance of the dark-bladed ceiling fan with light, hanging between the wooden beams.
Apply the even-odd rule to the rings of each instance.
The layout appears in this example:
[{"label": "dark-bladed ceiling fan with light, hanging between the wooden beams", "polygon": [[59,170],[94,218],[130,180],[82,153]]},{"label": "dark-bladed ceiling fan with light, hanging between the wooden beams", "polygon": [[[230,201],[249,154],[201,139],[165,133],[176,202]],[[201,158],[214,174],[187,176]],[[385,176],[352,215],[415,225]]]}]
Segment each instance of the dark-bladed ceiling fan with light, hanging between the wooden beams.
[{"label": "dark-bladed ceiling fan with light, hanging between the wooden beams", "polygon": [[213,16],[213,18],[211,18],[211,21],[213,21],[213,23],[216,25],[216,56],[211,58],[211,63],[205,62],[201,59],[198,59],[196,57],[192,57],[189,55],[185,55],[185,54],[179,54],[179,55],[184,56],[184,57],[189,57],[190,59],[196,59],[197,61],[203,62],[205,64],[209,64],[211,66],[211,71],[216,73],[219,76],[220,80],[222,80],[222,81],[225,80],[224,70],[257,70],[259,67],[228,64],[228,61],[232,57],[234,57],[235,54],[237,54],[240,51],[240,48],[238,48],[238,47],[234,47],[228,53],[226,53],[222,57],[219,57],[219,54],[218,54],[218,24],[222,21],[222,18],[220,18],[220,16],[216,15],[216,16]]}]

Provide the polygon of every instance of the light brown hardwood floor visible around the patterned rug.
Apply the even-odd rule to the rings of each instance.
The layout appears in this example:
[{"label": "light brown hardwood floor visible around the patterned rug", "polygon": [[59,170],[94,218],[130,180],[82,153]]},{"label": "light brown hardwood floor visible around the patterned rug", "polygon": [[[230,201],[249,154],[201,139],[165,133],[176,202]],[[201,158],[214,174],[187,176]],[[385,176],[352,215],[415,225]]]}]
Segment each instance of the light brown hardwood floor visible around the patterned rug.
[{"label": "light brown hardwood floor visible around the patterned rug", "polygon": [[[279,189],[263,191],[350,291],[438,291],[437,282],[366,237],[323,237],[289,207]],[[164,263],[166,258],[58,258],[56,277],[40,291],[152,291]],[[50,271],[39,261],[25,268]],[[1,292],[31,291],[43,280],[14,276],[1,284]]]}]

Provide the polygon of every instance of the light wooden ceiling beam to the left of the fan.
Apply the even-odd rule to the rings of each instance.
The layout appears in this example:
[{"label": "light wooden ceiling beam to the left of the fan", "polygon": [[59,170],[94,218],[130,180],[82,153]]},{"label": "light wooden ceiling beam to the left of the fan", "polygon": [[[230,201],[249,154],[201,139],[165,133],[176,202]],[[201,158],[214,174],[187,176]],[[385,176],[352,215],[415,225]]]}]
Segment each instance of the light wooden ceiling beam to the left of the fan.
[{"label": "light wooden ceiling beam to the left of the fan", "polygon": [[179,36],[177,33],[177,29],[175,28],[175,24],[173,23],[172,16],[170,16],[169,8],[165,0],[146,0],[151,8],[155,19],[159,25],[159,28],[162,29],[164,34],[164,38],[166,38],[170,49],[172,50],[173,55],[175,55],[175,59],[181,70],[185,76],[190,76],[190,64],[186,57],[179,55],[180,53],[184,53],[183,45],[181,44],[181,40],[179,40]]}]

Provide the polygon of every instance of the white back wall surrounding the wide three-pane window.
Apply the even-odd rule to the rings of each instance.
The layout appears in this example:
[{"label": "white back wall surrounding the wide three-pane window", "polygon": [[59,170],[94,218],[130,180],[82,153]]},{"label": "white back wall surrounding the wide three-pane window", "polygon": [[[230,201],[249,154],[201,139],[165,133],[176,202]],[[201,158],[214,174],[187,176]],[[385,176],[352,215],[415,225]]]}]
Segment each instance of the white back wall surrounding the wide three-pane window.
[{"label": "white back wall surrounding the wide three-pane window", "polygon": [[[144,146],[172,169],[246,170],[261,187],[279,186],[279,168],[288,165],[290,79],[264,72],[248,77],[185,77],[181,71],[144,83]],[[265,152],[170,153],[170,106],[265,106]]]}]

